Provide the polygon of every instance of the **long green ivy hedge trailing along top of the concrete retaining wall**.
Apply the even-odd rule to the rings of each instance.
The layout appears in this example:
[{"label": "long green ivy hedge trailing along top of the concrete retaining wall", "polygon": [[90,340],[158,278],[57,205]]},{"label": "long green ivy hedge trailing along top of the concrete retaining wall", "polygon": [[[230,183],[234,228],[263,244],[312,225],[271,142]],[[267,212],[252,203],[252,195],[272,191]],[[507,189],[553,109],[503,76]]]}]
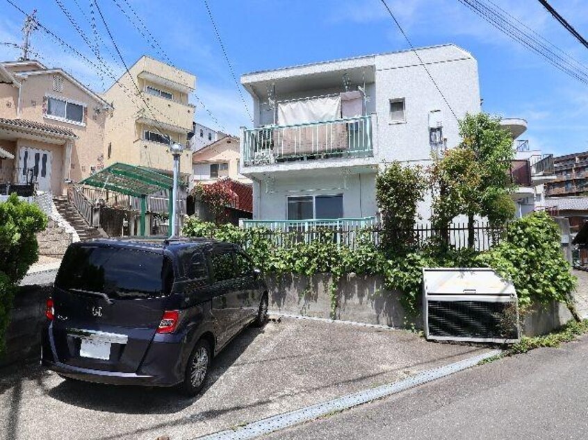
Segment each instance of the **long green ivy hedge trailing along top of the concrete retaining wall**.
[{"label": "long green ivy hedge trailing along top of the concrete retaining wall", "polygon": [[484,253],[434,243],[418,251],[376,246],[370,230],[358,231],[356,246],[351,249],[337,246],[328,229],[317,230],[313,240],[307,243],[301,242],[293,232],[243,230],[195,218],[186,221],[183,234],[240,244],[254,264],[266,273],[297,273],[309,277],[315,273],[332,273],[333,316],[336,285],[346,273],[382,276],[386,289],[402,291],[400,301],[413,316],[420,312],[425,267],[489,266],[513,281],[523,307],[533,301],[565,303],[575,285],[570,266],[560,252],[560,232],[545,213],[513,221],[503,242]]}]

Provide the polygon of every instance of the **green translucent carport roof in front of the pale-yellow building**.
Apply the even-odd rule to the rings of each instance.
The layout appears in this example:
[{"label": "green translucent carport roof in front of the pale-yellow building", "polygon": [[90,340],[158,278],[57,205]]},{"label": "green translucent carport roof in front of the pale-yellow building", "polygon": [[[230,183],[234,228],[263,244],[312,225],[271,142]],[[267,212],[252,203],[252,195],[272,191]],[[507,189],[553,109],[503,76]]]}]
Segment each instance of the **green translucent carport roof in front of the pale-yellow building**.
[{"label": "green translucent carport roof in front of the pale-yellow building", "polygon": [[96,174],[92,174],[80,183],[81,185],[120,192],[120,194],[127,196],[141,197],[149,196],[149,194],[154,194],[162,189],[171,189],[174,179],[148,168],[117,162]]}]

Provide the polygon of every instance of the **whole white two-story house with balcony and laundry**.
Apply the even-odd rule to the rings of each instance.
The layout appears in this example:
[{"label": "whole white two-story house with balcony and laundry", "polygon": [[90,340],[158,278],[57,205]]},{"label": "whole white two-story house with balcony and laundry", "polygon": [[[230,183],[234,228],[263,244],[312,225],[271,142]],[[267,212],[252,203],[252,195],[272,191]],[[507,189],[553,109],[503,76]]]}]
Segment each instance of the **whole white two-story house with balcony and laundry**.
[{"label": "whole white two-story house with balcony and laundry", "polygon": [[[255,220],[373,221],[379,168],[428,164],[459,144],[456,117],[480,112],[477,62],[454,44],[417,51],[450,108],[414,51],[241,77],[254,103],[240,173],[253,181]],[[430,217],[430,203],[420,214]]]}]

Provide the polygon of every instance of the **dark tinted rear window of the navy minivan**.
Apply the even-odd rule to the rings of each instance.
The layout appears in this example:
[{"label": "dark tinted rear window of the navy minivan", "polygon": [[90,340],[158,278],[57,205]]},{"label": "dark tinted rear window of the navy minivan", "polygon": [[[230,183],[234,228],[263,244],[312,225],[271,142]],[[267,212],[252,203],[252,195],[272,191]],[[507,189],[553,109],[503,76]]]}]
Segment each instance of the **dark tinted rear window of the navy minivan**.
[{"label": "dark tinted rear window of the navy minivan", "polygon": [[65,253],[55,285],[109,298],[154,298],[170,294],[173,270],[163,253],[76,246]]}]

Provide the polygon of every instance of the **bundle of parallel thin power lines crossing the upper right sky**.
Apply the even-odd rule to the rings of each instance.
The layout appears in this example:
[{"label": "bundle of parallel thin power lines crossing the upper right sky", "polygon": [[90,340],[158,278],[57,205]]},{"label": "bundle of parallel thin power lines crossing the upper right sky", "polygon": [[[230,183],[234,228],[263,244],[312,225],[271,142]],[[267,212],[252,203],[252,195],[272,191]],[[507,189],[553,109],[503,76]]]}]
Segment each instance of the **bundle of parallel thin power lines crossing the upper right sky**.
[{"label": "bundle of parallel thin power lines crossing the upper right sky", "polygon": [[[511,37],[512,40],[515,40],[516,42],[525,46],[530,51],[533,51],[537,53],[537,55],[545,58],[551,65],[553,65],[557,69],[560,69],[565,74],[568,74],[572,78],[577,79],[581,83],[588,84],[588,70],[586,69],[586,67],[582,65],[580,62],[568,56],[561,49],[557,49],[557,46],[555,46],[554,44],[550,45],[555,47],[561,53],[564,53],[565,57],[560,56],[560,54],[552,51],[548,46],[546,46],[546,44],[544,44],[541,41],[538,41],[537,38],[535,38],[533,35],[530,35],[530,33],[525,32],[523,29],[520,28],[520,26],[516,26],[516,24],[514,24],[507,15],[501,13],[496,8],[492,8],[491,6],[484,4],[482,3],[482,1],[479,0],[458,1],[467,8],[471,9],[473,12],[475,12],[486,22],[497,28],[499,31],[501,31],[508,37]],[[528,26],[524,27],[528,28]],[[541,40],[546,41],[543,37],[541,37]],[[575,65],[573,65],[569,61],[570,59],[575,62]]]}]

